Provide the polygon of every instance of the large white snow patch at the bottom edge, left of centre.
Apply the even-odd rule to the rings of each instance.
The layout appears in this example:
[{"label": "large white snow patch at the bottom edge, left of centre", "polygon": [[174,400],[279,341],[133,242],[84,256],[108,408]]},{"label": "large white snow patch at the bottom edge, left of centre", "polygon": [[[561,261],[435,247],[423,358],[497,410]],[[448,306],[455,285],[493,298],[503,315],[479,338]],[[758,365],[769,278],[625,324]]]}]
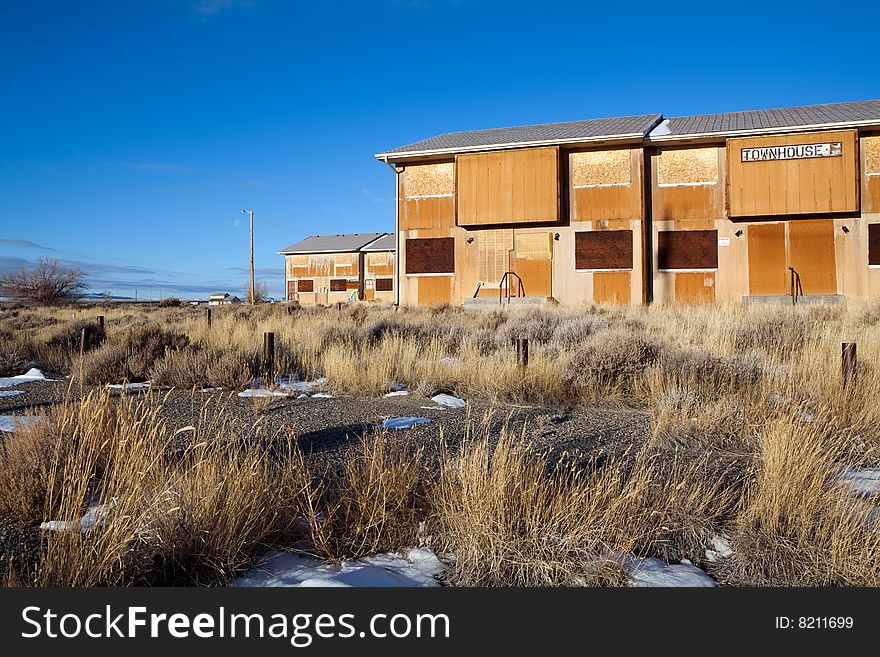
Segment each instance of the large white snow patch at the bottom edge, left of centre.
[{"label": "large white snow patch at the bottom edge, left of centre", "polygon": [[230,586],[440,586],[436,576],[446,570],[427,548],[405,554],[377,554],[332,564],[291,552],[272,552]]}]

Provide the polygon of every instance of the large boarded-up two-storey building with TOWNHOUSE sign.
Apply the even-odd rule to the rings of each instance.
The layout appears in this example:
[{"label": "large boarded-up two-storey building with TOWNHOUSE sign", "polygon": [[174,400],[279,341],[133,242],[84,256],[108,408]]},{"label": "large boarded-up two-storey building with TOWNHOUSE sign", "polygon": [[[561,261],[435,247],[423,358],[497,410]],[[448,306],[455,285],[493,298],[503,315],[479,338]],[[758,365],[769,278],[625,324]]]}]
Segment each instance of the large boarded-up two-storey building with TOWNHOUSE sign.
[{"label": "large boarded-up two-storey building with TOWNHOUSE sign", "polygon": [[395,172],[395,301],[880,295],[880,101],[448,133]]}]

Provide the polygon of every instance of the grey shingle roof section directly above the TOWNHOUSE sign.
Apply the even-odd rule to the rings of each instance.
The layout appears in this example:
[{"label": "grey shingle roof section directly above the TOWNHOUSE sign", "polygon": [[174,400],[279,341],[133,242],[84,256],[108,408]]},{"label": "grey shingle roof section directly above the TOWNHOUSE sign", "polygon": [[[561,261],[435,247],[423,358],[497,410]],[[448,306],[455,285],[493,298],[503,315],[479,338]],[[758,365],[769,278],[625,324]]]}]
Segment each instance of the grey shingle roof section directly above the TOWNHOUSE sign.
[{"label": "grey shingle roof section directly above the TOWNHOUSE sign", "polygon": [[715,132],[739,132],[773,128],[795,128],[836,123],[876,121],[880,123],[880,100],[863,100],[853,103],[806,105],[778,109],[726,112],[679,116],[664,121],[651,133],[651,137],[696,135]]}]

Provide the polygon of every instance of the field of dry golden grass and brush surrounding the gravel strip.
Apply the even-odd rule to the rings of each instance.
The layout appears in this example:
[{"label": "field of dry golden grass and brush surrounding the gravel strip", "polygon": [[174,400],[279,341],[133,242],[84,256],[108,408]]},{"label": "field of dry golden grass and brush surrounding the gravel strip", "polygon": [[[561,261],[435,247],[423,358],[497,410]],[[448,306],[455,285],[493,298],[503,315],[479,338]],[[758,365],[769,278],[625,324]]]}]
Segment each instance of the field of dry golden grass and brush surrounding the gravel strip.
[{"label": "field of dry golden grass and brush surrounding the gravel strip", "polygon": [[[71,334],[68,312],[3,311],[0,363],[75,370],[77,355],[53,338]],[[293,443],[240,445],[222,426],[194,427],[181,452],[155,400],[90,397],[6,439],[0,454],[0,512],[22,524],[111,501],[101,530],[48,535],[39,583],[222,582],[269,544],[301,535],[339,560],[413,546],[422,521],[432,547],[451,555],[453,584],[618,584],[628,552],[688,558],[733,584],[880,583],[880,512],[835,476],[880,464],[880,306],[257,307],[215,312],[210,329],[185,307],[100,312],[107,338],[84,363],[94,380],[239,387],[261,372],[262,333],[273,331],[276,371],[326,376],[331,389],[372,395],[401,382],[502,401],[627,404],[650,412],[652,438],[642,453],[574,470],[475,428],[435,470],[376,435],[344,472],[309,472]],[[526,370],[516,337],[531,340]],[[844,341],[859,345],[845,389]],[[706,564],[717,534],[735,553]]]}]

